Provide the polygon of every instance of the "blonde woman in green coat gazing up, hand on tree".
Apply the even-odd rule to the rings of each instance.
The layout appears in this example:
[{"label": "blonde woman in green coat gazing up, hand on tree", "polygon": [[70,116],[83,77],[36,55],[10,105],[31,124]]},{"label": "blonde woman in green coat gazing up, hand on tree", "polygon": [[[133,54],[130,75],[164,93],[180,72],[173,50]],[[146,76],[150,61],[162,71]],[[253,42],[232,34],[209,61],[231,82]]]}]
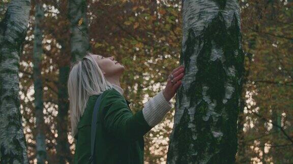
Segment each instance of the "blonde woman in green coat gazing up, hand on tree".
[{"label": "blonde woman in green coat gazing up, hand on tree", "polygon": [[143,135],[172,108],[170,99],[182,84],[184,67],[174,69],[164,90],[132,114],[123,97],[120,77],[125,67],[114,58],[87,53],[70,70],[68,94],[72,136],[76,139],[74,163],[90,163],[91,123],[94,105],[103,93],[94,146],[95,163],[143,163]]}]

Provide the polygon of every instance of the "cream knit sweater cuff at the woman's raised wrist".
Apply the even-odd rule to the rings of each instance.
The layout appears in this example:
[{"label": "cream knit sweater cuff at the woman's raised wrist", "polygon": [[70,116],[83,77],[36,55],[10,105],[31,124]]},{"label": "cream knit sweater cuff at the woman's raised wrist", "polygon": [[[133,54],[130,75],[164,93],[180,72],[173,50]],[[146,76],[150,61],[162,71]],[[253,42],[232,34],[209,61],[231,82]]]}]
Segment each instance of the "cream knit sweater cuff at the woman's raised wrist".
[{"label": "cream knit sweater cuff at the woman's raised wrist", "polygon": [[172,107],[171,102],[165,99],[162,90],[143,105],[142,114],[149,126],[155,127]]}]

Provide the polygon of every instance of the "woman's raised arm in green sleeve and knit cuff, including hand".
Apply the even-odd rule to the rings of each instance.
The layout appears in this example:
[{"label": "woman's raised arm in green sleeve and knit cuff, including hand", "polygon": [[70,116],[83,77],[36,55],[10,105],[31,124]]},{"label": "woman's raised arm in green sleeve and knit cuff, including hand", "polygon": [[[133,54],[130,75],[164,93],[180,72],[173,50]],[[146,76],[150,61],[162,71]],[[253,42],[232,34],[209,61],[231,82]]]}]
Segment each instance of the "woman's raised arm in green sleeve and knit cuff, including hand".
[{"label": "woman's raised arm in green sleeve and knit cuff, including hand", "polygon": [[[124,141],[135,141],[156,126],[172,108],[169,100],[181,85],[181,67],[176,68],[167,86],[144,104],[142,110],[133,114],[125,98],[118,91],[110,91],[103,103],[103,125],[107,132]],[[171,80],[173,79],[173,83]],[[174,81],[179,81],[175,82]]]}]

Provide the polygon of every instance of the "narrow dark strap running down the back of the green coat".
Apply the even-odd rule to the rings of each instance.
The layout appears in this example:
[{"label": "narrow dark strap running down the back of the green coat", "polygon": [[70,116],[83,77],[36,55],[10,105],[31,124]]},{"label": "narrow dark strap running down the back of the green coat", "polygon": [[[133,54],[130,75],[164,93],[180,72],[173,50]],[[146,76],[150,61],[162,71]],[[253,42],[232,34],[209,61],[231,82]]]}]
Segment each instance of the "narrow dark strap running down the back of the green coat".
[{"label": "narrow dark strap running down the back of the green coat", "polygon": [[[104,93],[104,92],[103,92]],[[91,156],[89,158],[90,163],[94,164],[94,148],[95,148],[95,139],[96,139],[96,129],[97,129],[97,122],[98,122],[98,108],[101,103],[102,95],[101,93],[96,101],[93,116],[92,116],[92,126],[91,126]]]}]

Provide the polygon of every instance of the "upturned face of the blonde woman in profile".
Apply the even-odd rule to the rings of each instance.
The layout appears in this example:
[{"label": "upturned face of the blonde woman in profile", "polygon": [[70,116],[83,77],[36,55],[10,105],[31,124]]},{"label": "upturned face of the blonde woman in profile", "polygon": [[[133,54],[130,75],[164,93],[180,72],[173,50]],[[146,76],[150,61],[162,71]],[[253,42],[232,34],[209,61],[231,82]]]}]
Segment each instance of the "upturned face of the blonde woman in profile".
[{"label": "upturned face of the blonde woman in profile", "polygon": [[125,67],[114,60],[114,57],[103,57],[102,55],[93,55],[99,67],[104,72],[105,77],[120,76],[123,74]]}]

